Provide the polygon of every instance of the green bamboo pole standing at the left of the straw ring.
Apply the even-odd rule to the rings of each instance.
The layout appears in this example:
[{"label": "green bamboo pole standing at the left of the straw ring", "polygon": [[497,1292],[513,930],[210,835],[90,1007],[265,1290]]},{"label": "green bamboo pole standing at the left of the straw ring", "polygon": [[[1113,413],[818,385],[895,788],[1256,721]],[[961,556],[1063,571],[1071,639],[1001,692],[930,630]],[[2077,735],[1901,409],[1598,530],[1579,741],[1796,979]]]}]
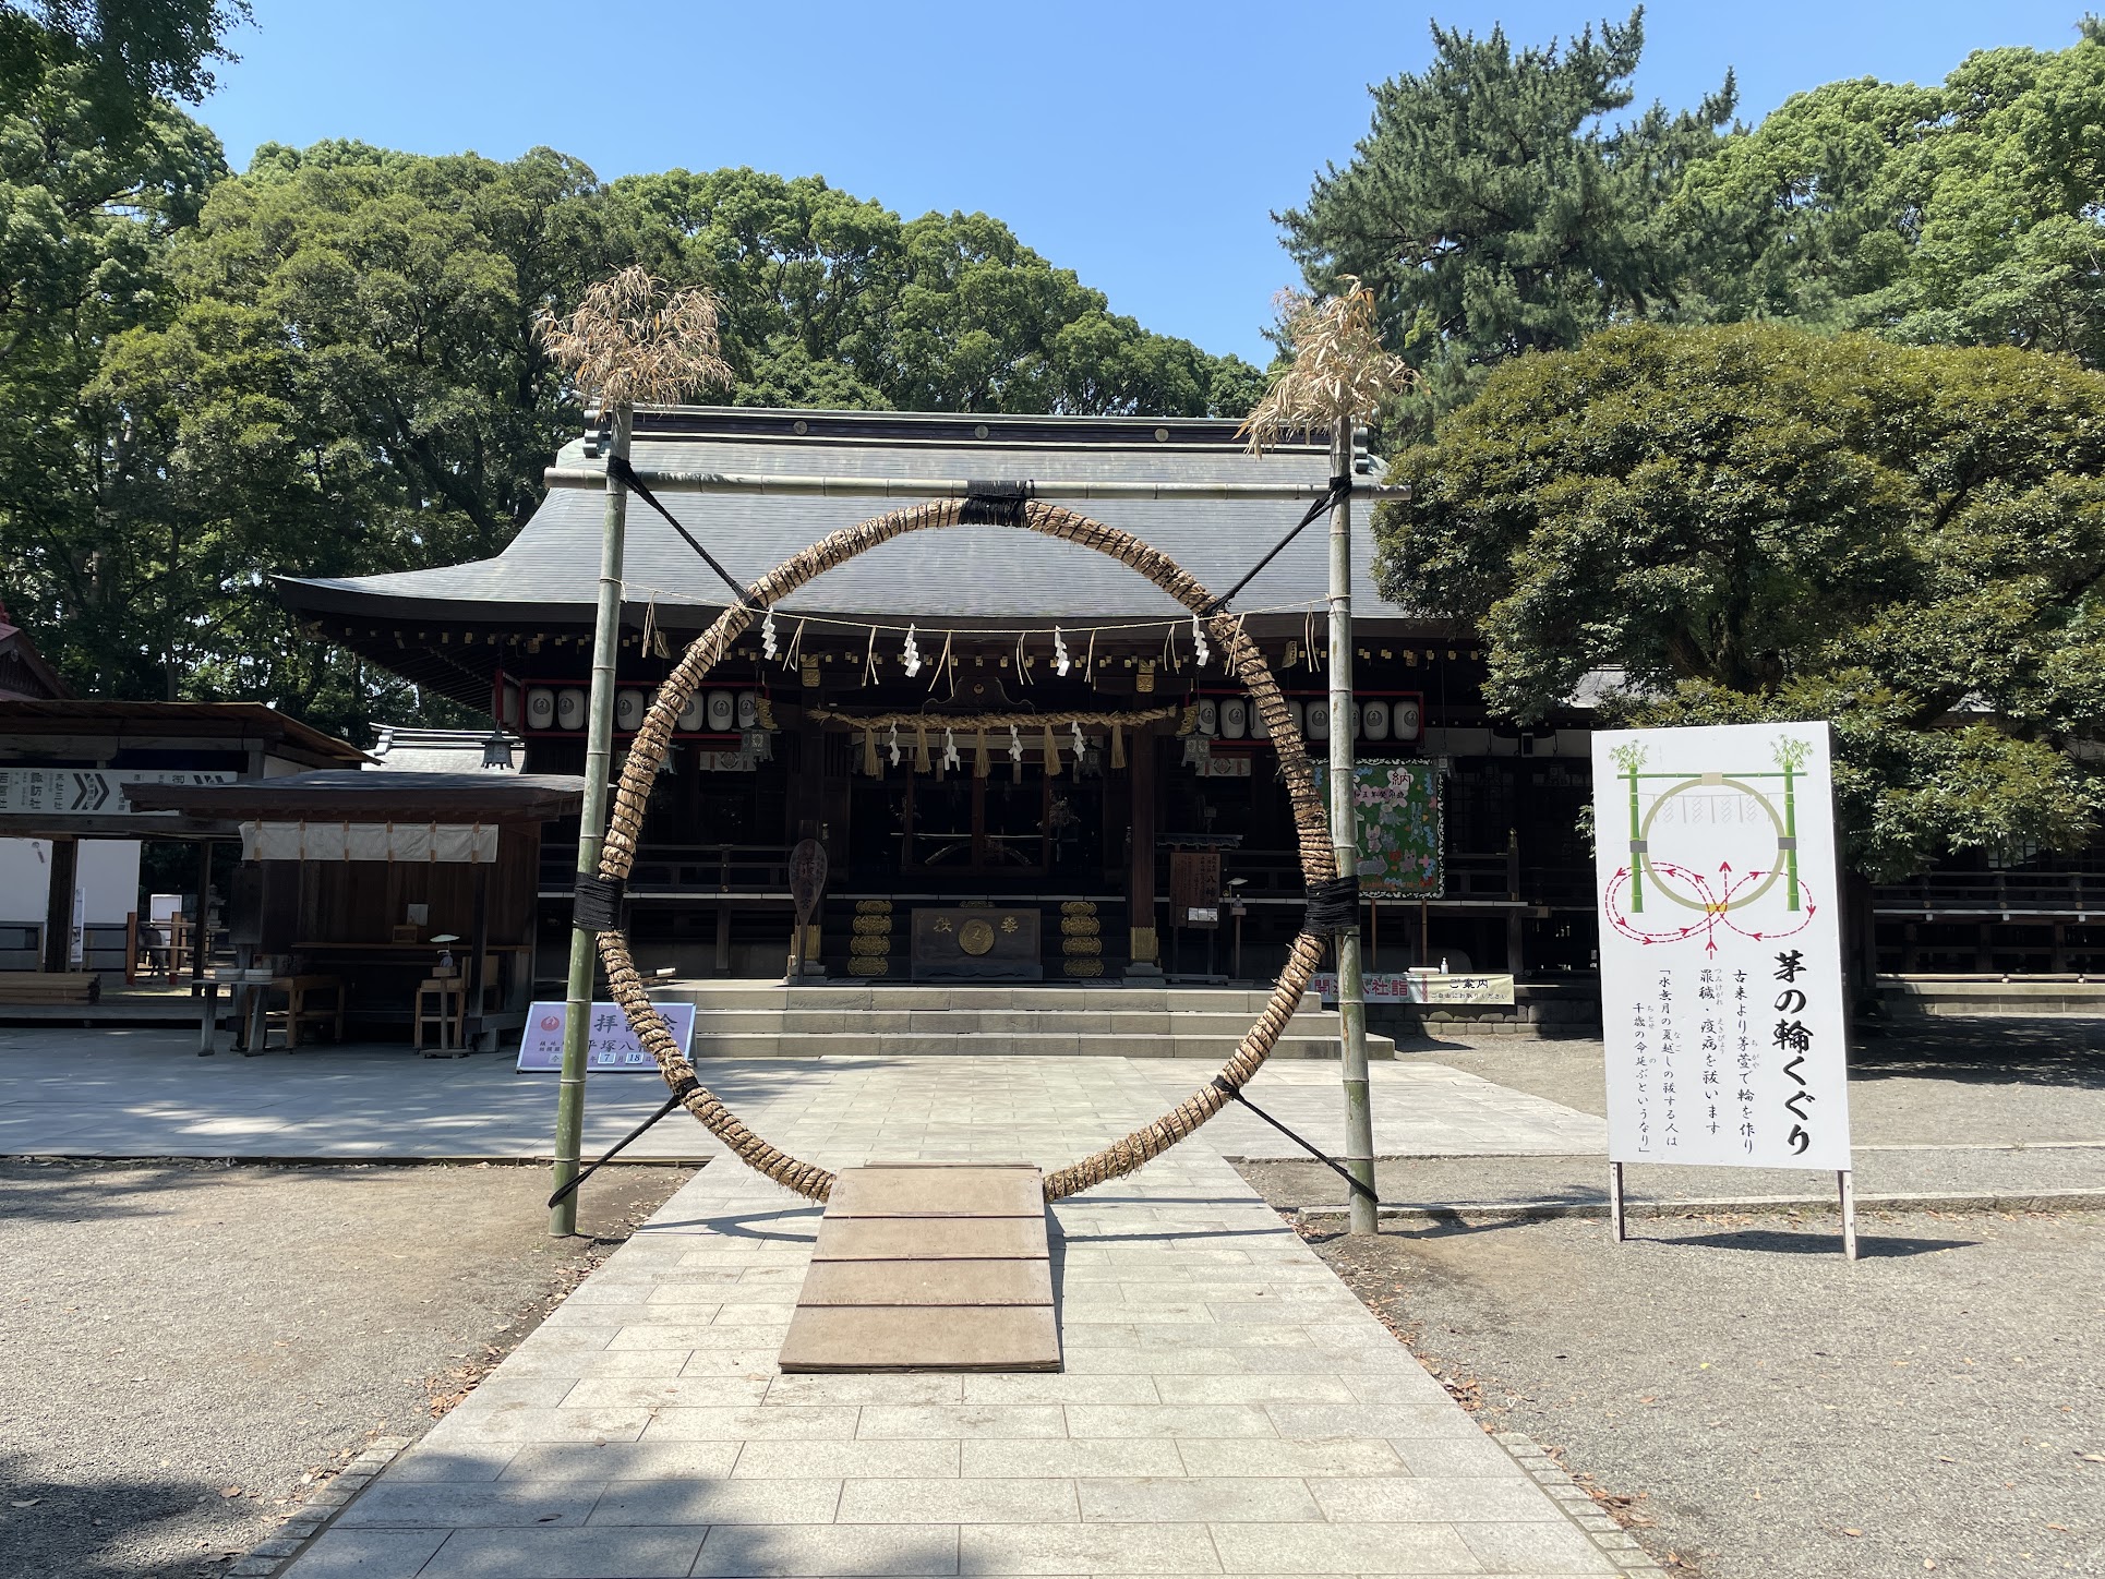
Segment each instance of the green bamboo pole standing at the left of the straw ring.
[{"label": "green bamboo pole standing at the left of the straw ring", "polygon": [[[634,411],[615,406],[610,453],[629,457]],[[585,806],[577,825],[577,874],[600,872],[600,840],[606,834],[606,781],[615,745],[615,663],[621,657],[621,552],[629,520],[629,491],[606,476],[606,524],[600,533],[600,615],[592,632],[592,714],[585,724]],[[592,1032],[592,975],[598,939],[570,918],[570,983],[562,1021],[562,1078],[556,1086],[556,1177],[562,1190],[577,1177],[585,1143],[585,1042]],[[577,1232],[577,1192],[564,1194],[547,1213],[547,1232],[568,1238]]]}]

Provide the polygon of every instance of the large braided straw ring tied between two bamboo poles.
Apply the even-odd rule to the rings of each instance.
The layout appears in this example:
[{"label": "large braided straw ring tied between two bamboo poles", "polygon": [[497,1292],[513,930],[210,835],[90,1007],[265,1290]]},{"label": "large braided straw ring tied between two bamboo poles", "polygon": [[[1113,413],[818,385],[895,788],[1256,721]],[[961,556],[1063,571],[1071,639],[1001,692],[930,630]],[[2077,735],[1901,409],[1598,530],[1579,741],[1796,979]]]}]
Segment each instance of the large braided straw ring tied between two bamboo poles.
[{"label": "large braided straw ring tied between two bamboo poles", "polygon": [[[615,792],[606,844],[600,851],[602,878],[625,880],[629,876],[629,867],[636,861],[636,840],[642,832],[644,802],[650,796],[650,781],[665,760],[665,747],[671,741],[680,709],[686,707],[695,688],[724,653],[730,651],[730,644],[745,632],[754,617],[787,598],[813,577],[831,571],[836,564],[846,564],[878,543],[888,543],[895,537],[933,526],[958,526],[962,507],[958,499],[909,505],[907,509],[895,509],[859,526],[838,531],[777,564],[745,589],[743,604],[726,608],[709,629],[695,638],[686,653],[680,655],[665,684],[659,686],[657,699],[650,703],[650,714],[632,743],[627,766],[621,771],[621,785]],[[1061,509],[1059,505],[1038,503],[1036,499],[1023,503],[1021,526],[1067,543],[1080,543],[1082,547],[1107,554],[1120,564],[1132,566],[1206,621],[1215,642],[1227,655],[1229,669],[1248,688],[1259,714],[1263,714],[1265,724],[1271,728],[1280,768],[1286,773],[1286,794],[1295,808],[1295,830],[1301,840],[1301,874],[1307,882],[1335,878],[1337,863],[1330,851],[1330,827],[1322,800],[1316,794],[1316,775],[1309,768],[1301,731],[1295,728],[1292,714],[1286,712],[1286,701],[1280,697],[1278,680],[1271,678],[1263,653],[1242,634],[1240,621],[1231,615],[1208,615],[1212,598],[1206,587],[1191,579],[1177,560],[1151,549],[1128,533],[1095,522],[1088,516],[1078,516],[1071,509]],[[615,1002],[629,1017],[638,1040],[657,1057],[665,1084],[674,1091],[684,1088],[682,1105],[756,1173],[810,1200],[825,1200],[834,1187],[831,1173],[817,1162],[800,1162],[787,1152],[768,1145],[745,1128],[737,1114],[716,1095],[695,1082],[695,1065],[680,1053],[678,1042],[674,1042],[671,1032],[665,1027],[665,1019],[644,994],[644,981],[629,958],[627,937],[621,931],[604,931],[598,935],[598,943]],[[1221,1074],[1145,1128],[1137,1128],[1122,1141],[1046,1175],[1046,1200],[1061,1200],[1078,1190],[1088,1190],[1090,1185],[1132,1173],[1221,1112],[1229,1095],[1240,1091],[1271,1055],[1280,1032],[1286,1030],[1286,1023],[1301,1004],[1301,994],[1307,992],[1320,956],[1320,939],[1309,933],[1297,935],[1286,952],[1286,968],[1280,971],[1280,979],[1271,987],[1271,998],[1259,1013],[1257,1023],[1236,1044],[1234,1055],[1221,1065]]]}]

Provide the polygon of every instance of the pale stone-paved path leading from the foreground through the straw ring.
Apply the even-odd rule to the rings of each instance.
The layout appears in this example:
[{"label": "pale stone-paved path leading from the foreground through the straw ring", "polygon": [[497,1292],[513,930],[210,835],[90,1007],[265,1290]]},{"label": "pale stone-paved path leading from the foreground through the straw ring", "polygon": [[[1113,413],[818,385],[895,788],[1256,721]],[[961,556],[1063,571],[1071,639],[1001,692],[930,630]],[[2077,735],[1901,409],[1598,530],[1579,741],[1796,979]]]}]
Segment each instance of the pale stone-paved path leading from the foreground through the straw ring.
[{"label": "pale stone-paved path leading from the foreground through the straw ring", "polygon": [[[1059,1164],[1160,1099],[827,1061],[747,1116],[831,1166]],[[1065,1375],[783,1377],[819,1211],[714,1164],[290,1579],[1615,1573],[1206,1139],[1055,1217]]]}]

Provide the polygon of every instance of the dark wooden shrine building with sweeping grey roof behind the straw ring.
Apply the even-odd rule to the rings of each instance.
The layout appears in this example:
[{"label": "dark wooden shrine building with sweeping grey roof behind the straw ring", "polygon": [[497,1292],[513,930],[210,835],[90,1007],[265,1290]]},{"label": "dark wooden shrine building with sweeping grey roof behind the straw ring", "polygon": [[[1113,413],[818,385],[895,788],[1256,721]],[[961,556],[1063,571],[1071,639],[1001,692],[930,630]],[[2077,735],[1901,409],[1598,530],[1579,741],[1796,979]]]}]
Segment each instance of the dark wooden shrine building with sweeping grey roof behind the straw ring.
[{"label": "dark wooden shrine building with sweeping grey roof behind the straw ring", "polygon": [[[497,558],[280,579],[278,592],[312,638],[499,718],[524,741],[526,773],[577,775],[606,438],[600,427],[564,446],[541,507]],[[781,493],[657,491],[741,583],[918,501],[914,478],[1006,478],[1042,480],[1038,497],[1143,539],[1217,594],[1280,545],[1305,501],[1092,499],[1088,484],[1297,482],[1316,495],[1330,469],[1320,436],[1252,457],[1231,421],[697,406],[638,411],[632,461],[646,480],[785,480]],[[1362,453],[1358,472],[1377,469]],[[825,495],[819,478],[899,478],[901,491]],[[1528,728],[1492,716],[1471,632],[1379,594],[1364,503],[1354,543],[1349,720],[1328,716],[1324,522],[1229,611],[1263,648],[1314,758],[1345,726],[1364,762],[1421,764],[1434,859],[1370,899],[1370,971],[1446,962],[1589,996],[1583,699]],[[632,497],[617,762],[674,659],[726,602],[695,547]],[[554,823],[541,848],[543,981],[562,975],[575,838],[575,819]],[[943,979],[964,962],[956,950],[939,958],[914,912],[991,905],[1027,924],[966,971],[975,979],[1257,981],[1278,968],[1303,912],[1271,741],[1219,655],[1198,651],[1191,615],[1111,558],[1008,526],[907,533],[853,558],[766,627],[756,621],[709,674],[680,718],[627,884],[638,964],[779,979],[794,931],[789,851],[804,838],[829,857],[808,958],[836,979]],[[1194,880],[1221,891],[1191,893]],[[1979,910],[1991,876],[1958,874],[1974,910],[1947,907],[1958,931],[1945,952],[1932,910],[1951,905],[1943,891],[1882,893],[1880,968],[2084,968],[2090,931],[2078,916],[2094,880],[2054,880],[2067,897],[2050,897],[2027,933],[2006,903],[2000,916]]]}]

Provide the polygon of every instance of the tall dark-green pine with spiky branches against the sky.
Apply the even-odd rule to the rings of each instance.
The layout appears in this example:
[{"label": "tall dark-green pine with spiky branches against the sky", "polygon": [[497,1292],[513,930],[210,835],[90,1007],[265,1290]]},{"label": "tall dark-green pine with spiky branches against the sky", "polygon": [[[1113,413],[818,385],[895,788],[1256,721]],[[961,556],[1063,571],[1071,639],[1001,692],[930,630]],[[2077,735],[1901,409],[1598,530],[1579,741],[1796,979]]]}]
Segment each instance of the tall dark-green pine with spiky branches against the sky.
[{"label": "tall dark-green pine with spiky branches against the sky", "polygon": [[1682,301],[1711,236],[1661,215],[1735,103],[1726,76],[1692,112],[1608,124],[1631,103],[1642,8],[1566,46],[1440,25],[1434,46],[1423,74],[1372,88],[1351,162],[1278,215],[1314,291],[1341,274],[1372,286],[1391,345],[1421,368],[1400,413],[1421,432],[1490,366]]}]

